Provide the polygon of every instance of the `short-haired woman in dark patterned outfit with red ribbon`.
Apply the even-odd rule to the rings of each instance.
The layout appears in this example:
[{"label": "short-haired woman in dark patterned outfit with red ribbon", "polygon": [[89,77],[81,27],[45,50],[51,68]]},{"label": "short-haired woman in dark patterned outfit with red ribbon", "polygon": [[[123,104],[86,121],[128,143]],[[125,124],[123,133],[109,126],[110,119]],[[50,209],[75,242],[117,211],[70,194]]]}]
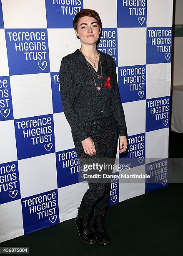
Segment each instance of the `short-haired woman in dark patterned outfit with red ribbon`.
[{"label": "short-haired woman in dark patterned outfit with red ribbon", "polygon": [[[127,128],[118,89],[115,61],[99,52],[102,23],[98,13],[83,9],[75,15],[73,27],[81,47],[64,56],[60,65],[60,94],[65,117],[71,127],[80,165],[86,159],[115,159],[127,148]],[[82,161],[83,160],[83,161]],[[82,164],[81,164],[82,163]],[[78,207],[75,224],[85,243],[110,242],[104,215],[111,181],[90,182]],[[92,229],[90,219],[94,213]]]}]

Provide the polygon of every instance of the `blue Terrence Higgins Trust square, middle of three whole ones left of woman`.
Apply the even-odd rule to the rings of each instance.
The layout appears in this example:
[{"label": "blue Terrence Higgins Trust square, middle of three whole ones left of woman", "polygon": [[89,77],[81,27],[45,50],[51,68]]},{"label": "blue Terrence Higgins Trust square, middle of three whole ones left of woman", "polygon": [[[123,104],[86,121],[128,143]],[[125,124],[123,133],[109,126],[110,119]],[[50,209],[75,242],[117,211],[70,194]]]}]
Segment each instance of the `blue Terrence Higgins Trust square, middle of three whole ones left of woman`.
[{"label": "blue Terrence Higgins Trust square, middle of three whole ones left of woman", "polygon": [[18,160],[55,152],[53,115],[15,119]]}]

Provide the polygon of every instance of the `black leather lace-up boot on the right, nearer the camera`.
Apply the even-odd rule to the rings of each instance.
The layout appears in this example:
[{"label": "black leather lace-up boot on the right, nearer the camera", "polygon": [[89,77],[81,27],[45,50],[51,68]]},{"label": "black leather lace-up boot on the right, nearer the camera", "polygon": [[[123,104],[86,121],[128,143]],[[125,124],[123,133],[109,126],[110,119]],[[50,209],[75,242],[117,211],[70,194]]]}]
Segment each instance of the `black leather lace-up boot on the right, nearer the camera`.
[{"label": "black leather lace-up boot on the right, nearer the camera", "polygon": [[92,229],[95,231],[97,242],[106,245],[110,243],[110,236],[107,233],[106,221],[104,215],[94,215]]}]

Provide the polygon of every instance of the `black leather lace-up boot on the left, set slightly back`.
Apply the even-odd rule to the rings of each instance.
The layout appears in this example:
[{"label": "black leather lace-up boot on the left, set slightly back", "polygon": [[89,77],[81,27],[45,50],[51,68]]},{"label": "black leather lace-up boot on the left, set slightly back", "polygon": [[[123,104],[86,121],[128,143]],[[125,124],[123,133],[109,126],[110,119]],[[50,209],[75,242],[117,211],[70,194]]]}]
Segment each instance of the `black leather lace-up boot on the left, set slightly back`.
[{"label": "black leather lace-up boot on the left, set slightly back", "polygon": [[96,242],[96,237],[93,230],[90,228],[89,220],[83,220],[77,215],[75,218],[75,225],[78,228],[80,239],[83,242],[90,244]]}]

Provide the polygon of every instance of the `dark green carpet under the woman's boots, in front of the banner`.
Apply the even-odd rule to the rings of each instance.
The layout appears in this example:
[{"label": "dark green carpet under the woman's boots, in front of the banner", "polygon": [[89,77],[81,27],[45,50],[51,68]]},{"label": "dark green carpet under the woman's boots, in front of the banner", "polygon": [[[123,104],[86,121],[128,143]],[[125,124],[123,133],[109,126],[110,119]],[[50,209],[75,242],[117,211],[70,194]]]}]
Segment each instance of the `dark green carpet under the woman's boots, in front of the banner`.
[{"label": "dark green carpet under the woman's boots, in front of the banner", "polygon": [[[183,134],[170,132],[169,157],[183,145]],[[183,255],[183,186],[168,187],[108,207],[111,243],[101,246],[80,241],[75,219],[0,243],[28,246],[30,255]]]}]

